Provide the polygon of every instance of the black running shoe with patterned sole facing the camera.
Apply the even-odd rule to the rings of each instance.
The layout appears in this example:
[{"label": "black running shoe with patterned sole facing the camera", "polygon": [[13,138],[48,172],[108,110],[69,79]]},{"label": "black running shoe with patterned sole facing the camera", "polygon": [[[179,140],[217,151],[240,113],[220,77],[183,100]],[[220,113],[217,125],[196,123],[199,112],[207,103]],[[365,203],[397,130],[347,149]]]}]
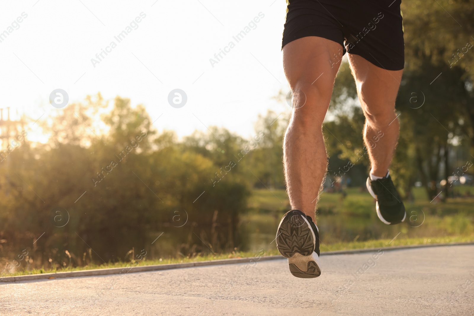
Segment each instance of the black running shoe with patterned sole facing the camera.
[{"label": "black running shoe with patterned sole facing the camera", "polygon": [[283,216],[276,233],[276,247],[288,258],[292,275],[298,278],[316,278],[319,268],[319,231],[311,217],[298,209]]}]

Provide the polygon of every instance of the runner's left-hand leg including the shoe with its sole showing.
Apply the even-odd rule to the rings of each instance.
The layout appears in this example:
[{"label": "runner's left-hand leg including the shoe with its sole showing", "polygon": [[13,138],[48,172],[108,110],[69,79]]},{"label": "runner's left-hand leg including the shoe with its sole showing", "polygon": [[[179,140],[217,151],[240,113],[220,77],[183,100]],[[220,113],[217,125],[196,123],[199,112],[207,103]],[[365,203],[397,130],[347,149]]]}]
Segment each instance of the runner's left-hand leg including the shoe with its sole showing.
[{"label": "runner's left-hand leg including the shoe with its sole showing", "polygon": [[292,210],[280,221],[275,241],[278,251],[288,258],[290,272],[298,278],[321,274],[314,209],[328,164],[322,122],[340,65],[331,56],[341,50],[337,42],[317,36],[302,37],[283,47],[283,66],[293,91],[292,117],[283,143]]}]

